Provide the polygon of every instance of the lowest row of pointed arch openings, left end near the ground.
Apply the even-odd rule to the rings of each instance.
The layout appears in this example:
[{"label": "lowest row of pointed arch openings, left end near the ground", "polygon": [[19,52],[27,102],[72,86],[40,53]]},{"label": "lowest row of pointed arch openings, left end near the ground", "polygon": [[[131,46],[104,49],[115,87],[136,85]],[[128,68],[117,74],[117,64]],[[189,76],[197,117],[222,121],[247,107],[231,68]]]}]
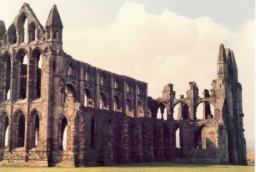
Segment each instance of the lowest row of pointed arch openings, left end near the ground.
[{"label": "lowest row of pointed arch openings, left end near the ground", "polygon": [[[27,117],[22,110],[18,110],[10,120],[10,115],[4,112],[1,116],[1,148],[22,148],[27,140],[27,148],[33,149],[40,146],[42,120],[40,112],[33,110],[31,113],[31,122],[27,122]],[[67,150],[70,118],[62,114],[58,120],[58,150]],[[95,121],[92,121],[95,123]],[[27,126],[26,126],[27,125]],[[92,124],[92,126],[95,124]],[[26,128],[27,133],[26,134]],[[94,133],[92,133],[94,135]]]}]

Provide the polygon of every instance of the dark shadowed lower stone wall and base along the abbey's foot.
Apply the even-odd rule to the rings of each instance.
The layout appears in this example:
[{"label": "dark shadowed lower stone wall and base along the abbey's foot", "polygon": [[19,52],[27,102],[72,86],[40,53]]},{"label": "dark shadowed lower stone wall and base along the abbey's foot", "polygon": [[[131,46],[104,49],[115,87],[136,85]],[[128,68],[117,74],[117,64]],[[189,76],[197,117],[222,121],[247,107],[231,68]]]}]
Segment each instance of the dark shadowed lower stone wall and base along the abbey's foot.
[{"label": "dark shadowed lower stone wall and base along the abbey's foot", "polygon": [[[209,131],[209,139],[212,138],[210,143],[216,146],[196,149],[193,148],[194,132],[204,121],[134,118],[122,112],[90,107],[80,108],[76,116],[73,118],[75,122],[70,122],[72,126],[69,129],[72,130],[71,133],[74,132],[71,134],[74,138],[69,138],[72,140],[69,142],[69,150],[56,150],[56,146],[49,146],[48,149],[52,151],[48,152],[40,150],[40,147],[29,151],[25,148],[11,152],[8,149],[0,150],[1,165],[82,167],[152,161],[228,163],[228,157],[225,156],[228,155],[227,149],[220,150],[217,141],[226,137],[211,134],[213,130],[217,130],[216,120],[208,122],[208,129],[205,130]],[[177,125],[180,135],[183,135],[180,138],[183,142],[180,143],[181,148],[176,148],[174,144]],[[191,130],[187,130],[188,126]]]}]

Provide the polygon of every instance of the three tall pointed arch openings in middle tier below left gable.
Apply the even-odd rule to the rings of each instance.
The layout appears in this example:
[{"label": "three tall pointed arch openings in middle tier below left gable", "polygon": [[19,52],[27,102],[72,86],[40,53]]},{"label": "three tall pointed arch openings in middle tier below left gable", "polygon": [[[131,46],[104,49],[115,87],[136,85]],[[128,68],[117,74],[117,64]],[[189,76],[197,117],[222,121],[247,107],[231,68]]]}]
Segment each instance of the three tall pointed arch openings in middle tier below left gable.
[{"label": "three tall pointed arch openings in middle tier below left gable", "polygon": [[[27,84],[30,84],[32,90],[32,99],[41,97],[41,78],[42,78],[42,56],[41,50],[35,48],[29,58],[29,53],[25,48],[18,50],[15,57],[9,52],[5,52],[3,56],[3,97],[4,100],[10,100],[11,96],[14,100],[26,99]],[[12,73],[12,75],[11,75]],[[29,79],[28,79],[28,76]],[[11,81],[13,84],[11,84]],[[11,88],[12,85],[12,88]],[[18,90],[18,92],[12,92]]]}]

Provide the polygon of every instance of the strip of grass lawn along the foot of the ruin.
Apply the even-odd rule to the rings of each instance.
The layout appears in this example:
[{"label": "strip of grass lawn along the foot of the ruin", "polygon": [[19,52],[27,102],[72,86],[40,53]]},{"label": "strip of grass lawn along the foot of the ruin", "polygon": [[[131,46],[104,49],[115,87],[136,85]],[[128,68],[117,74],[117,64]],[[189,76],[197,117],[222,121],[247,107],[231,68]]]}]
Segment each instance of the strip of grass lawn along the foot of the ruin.
[{"label": "strip of grass lawn along the foot of the ruin", "polygon": [[234,165],[209,165],[209,164],[185,164],[185,163],[172,163],[172,162],[151,162],[151,163],[134,163],[134,164],[119,164],[114,166],[97,166],[97,167],[79,167],[79,168],[68,168],[68,167],[17,167],[17,166],[0,166],[1,172],[25,172],[25,171],[38,171],[38,172],[48,172],[48,171],[58,171],[58,172],[105,172],[105,171],[117,171],[117,172],[143,172],[143,171],[154,171],[154,172],[245,172],[254,171],[254,166],[234,166]]}]

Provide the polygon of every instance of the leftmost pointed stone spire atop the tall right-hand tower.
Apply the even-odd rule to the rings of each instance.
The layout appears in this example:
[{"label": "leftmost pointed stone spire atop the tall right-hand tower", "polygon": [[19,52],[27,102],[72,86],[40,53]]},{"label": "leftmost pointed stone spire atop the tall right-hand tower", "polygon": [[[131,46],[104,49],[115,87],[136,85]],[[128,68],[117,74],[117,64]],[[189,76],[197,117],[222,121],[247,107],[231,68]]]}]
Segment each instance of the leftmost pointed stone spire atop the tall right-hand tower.
[{"label": "leftmost pointed stone spire atop the tall right-hand tower", "polygon": [[228,78],[228,61],[226,57],[226,50],[223,44],[220,45],[218,60],[217,60],[217,73],[218,78]]}]

